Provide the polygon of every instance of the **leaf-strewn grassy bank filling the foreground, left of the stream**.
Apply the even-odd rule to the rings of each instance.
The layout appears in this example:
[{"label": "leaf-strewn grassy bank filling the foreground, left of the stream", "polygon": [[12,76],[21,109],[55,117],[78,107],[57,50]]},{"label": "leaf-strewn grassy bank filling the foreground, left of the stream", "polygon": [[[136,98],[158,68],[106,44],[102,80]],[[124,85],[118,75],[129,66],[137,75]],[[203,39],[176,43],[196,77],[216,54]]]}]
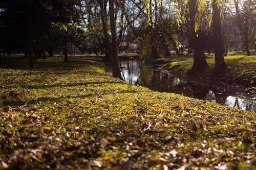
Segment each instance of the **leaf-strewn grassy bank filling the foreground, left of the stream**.
[{"label": "leaf-strewn grassy bank filling the foreground, left of the stream", "polygon": [[255,168],[255,112],[125,84],[95,58],[3,60],[0,169]]}]

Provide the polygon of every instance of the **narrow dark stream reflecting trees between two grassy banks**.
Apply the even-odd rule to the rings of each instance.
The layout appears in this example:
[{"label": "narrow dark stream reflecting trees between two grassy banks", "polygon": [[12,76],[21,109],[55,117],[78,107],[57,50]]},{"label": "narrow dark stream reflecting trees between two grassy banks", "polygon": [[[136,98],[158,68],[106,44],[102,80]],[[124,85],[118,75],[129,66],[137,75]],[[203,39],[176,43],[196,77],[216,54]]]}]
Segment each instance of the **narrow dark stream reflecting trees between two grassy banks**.
[{"label": "narrow dark stream reflecting trees between two grassy banks", "polygon": [[122,77],[129,84],[141,85],[160,92],[207,100],[213,103],[256,112],[256,97],[199,86],[175,78],[166,72],[143,65],[139,60],[120,61]]}]

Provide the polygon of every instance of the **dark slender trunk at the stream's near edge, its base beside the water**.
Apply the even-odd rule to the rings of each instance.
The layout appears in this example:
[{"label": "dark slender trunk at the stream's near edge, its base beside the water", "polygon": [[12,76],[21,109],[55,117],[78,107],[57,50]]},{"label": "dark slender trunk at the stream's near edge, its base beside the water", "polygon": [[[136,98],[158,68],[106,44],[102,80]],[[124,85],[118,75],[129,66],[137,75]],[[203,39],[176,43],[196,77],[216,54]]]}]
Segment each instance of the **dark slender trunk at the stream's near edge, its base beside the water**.
[{"label": "dark slender trunk at the stream's near edge, its base beside the water", "polygon": [[122,79],[120,66],[117,56],[117,39],[116,39],[116,23],[114,16],[114,0],[110,0],[110,30],[112,37],[112,68],[113,68],[113,76],[119,79]]}]

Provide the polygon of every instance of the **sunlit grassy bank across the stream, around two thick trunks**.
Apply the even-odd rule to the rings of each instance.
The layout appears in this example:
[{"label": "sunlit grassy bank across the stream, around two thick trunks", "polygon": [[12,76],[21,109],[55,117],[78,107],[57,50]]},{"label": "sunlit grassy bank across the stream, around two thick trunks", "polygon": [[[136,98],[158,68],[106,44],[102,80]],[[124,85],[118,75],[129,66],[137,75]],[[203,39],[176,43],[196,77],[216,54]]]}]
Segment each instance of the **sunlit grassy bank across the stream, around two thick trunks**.
[{"label": "sunlit grassy bank across the stream, around two thick trunks", "polygon": [[192,78],[193,80],[215,83],[237,89],[246,89],[256,87],[256,52],[251,52],[251,56],[246,56],[243,52],[231,52],[224,57],[228,66],[226,73],[222,77],[212,75],[215,67],[214,54],[206,55],[208,68],[204,71],[188,74],[189,69],[193,66],[193,55],[182,57],[170,57],[159,59],[158,62],[165,63],[164,69],[171,70],[174,74],[183,77]]}]

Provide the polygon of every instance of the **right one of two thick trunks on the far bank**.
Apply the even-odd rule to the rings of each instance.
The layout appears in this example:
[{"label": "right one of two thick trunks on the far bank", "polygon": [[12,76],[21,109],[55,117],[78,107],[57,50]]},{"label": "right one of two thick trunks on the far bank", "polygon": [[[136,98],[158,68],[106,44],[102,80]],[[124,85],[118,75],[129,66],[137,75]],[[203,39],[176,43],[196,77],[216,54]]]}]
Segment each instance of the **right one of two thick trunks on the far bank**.
[{"label": "right one of two thick trunks on the far bank", "polygon": [[224,74],[226,64],[224,61],[223,37],[221,33],[221,15],[220,8],[217,7],[217,1],[212,2],[212,32],[214,36],[214,53],[215,53],[215,73]]}]

